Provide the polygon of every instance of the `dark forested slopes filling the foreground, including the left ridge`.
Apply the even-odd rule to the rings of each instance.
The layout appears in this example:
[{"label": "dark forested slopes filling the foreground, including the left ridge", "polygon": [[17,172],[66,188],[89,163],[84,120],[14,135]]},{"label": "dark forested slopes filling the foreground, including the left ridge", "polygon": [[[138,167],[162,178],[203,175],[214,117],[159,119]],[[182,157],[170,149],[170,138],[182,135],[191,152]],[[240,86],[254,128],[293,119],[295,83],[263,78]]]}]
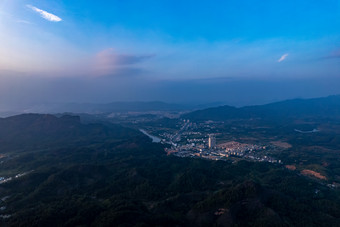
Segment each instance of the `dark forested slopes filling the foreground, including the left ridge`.
[{"label": "dark forested slopes filling the foreground, including the left ridge", "polygon": [[[16,131],[15,119],[26,127]],[[279,165],[166,156],[138,131],[77,118],[23,115],[11,122],[7,146],[17,146],[11,139],[46,142],[3,153],[0,176],[13,179],[0,184],[2,226],[340,223],[337,190]],[[26,175],[15,178],[19,173]]]}]

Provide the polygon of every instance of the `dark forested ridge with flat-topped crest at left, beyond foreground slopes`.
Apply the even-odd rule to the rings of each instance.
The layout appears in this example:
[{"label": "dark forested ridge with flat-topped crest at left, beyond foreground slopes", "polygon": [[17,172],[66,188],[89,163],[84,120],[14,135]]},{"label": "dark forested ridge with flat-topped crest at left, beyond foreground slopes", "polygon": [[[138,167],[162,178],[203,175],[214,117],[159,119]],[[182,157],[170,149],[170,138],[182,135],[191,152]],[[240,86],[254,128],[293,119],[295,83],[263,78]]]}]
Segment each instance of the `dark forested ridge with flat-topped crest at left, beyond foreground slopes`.
[{"label": "dark forested ridge with flat-topped crest at left, beyond foreground slopes", "polygon": [[142,136],[114,124],[82,124],[78,116],[23,114],[0,118],[0,148],[48,147]]}]

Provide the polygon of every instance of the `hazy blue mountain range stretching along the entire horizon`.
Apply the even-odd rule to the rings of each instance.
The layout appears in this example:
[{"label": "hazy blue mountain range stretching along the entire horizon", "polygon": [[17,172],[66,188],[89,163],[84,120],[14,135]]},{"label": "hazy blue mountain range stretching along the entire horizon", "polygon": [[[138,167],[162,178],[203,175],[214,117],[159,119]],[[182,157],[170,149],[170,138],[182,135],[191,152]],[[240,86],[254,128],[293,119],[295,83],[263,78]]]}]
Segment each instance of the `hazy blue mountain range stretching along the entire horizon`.
[{"label": "hazy blue mountain range stretching along the entire horizon", "polygon": [[289,117],[339,117],[340,95],[313,98],[292,99],[266,105],[233,107],[221,103],[209,104],[172,104],[165,102],[112,102],[107,104],[95,103],[59,103],[43,104],[29,108],[17,108],[2,112],[0,116],[13,116],[20,113],[76,113],[76,114],[107,114],[127,112],[157,112],[174,111],[189,112],[183,118],[192,120],[249,119],[249,118],[289,118]]}]

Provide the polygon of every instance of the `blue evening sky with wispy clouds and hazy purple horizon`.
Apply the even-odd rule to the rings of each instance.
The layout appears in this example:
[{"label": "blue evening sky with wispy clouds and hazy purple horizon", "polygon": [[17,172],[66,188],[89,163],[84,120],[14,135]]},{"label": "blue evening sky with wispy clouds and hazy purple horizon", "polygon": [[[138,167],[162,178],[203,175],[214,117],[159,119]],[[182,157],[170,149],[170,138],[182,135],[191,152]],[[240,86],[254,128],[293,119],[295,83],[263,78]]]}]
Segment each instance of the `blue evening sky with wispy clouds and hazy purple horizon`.
[{"label": "blue evening sky with wispy clouds and hazy purple horizon", "polygon": [[340,1],[0,1],[0,109],[340,94]]}]

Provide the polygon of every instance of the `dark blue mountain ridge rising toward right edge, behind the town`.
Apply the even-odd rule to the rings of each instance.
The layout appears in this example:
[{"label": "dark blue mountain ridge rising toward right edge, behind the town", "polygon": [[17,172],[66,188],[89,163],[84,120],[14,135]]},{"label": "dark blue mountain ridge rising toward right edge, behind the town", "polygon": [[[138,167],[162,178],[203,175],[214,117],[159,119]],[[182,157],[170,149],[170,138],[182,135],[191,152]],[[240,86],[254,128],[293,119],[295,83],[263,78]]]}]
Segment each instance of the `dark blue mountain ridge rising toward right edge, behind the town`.
[{"label": "dark blue mountain ridge rising toward right edge, behind the town", "polygon": [[259,106],[220,106],[194,111],[182,116],[192,120],[322,117],[340,118],[340,95],[315,99],[293,99]]}]

